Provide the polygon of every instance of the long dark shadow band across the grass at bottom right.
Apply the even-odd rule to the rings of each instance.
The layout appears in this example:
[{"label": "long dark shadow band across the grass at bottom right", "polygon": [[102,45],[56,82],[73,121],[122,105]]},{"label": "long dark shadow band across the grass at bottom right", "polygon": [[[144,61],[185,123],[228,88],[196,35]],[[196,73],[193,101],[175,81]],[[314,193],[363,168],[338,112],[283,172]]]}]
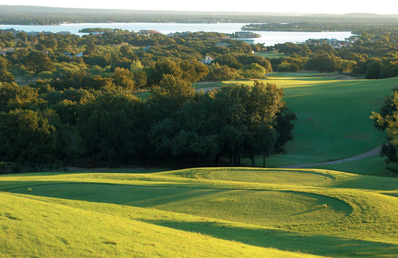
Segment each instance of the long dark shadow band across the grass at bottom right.
[{"label": "long dark shadow band across the grass at bottom right", "polygon": [[215,238],[284,251],[332,257],[394,257],[398,245],[349,238],[291,232],[272,228],[240,227],[228,222],[186,222],[162,219],[143,219],[142,222],[169,228],[197,232]]}]

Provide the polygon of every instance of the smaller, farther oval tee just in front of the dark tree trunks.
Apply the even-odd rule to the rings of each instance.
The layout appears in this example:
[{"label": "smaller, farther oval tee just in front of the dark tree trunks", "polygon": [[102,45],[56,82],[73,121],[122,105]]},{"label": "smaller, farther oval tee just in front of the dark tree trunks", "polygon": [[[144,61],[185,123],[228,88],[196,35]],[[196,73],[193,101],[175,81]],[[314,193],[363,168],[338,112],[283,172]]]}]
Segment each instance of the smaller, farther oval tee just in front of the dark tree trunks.
[{"label": "smaller, farther oval tee just in front of the dark tree trunks", "polygon": [[211,180],[278,185],[314,185],[335,180],[334,177],[326,174],[295,170],[211,170],[210,173],[201,171],[197,174],[197,177]]}]

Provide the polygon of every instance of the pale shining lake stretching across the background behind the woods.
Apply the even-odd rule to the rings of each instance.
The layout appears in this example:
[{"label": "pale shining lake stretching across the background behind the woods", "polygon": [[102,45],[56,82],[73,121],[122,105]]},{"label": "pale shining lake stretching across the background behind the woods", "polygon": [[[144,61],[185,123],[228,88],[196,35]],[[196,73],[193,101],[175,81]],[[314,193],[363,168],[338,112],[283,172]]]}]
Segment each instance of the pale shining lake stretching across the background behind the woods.
[{"label": "pale shining lake stretching across the background behind the woods", "polygon": [[[184,31],[205,31],[235,33],[241,31],[243,25],[247,23],[69,23],[60,25],[0,25],[0,29],[31,31],[51,31],[53,33],[60,31],[69,31],[76,35],[85,35],[79,33],[84,28],[112,28],[129,31],[139,30],[157,30],[160,33],[168,34],[170,32]],[[273,46],[277,43],[285,42],[303,42],[307,39],[338,39],[344,40],[352,36],[349,31],[340,32],[286,32],[286,31],[255,31],[261,35],[261,38],[254,38],[255,43],[265,43],[266,46]]]}]

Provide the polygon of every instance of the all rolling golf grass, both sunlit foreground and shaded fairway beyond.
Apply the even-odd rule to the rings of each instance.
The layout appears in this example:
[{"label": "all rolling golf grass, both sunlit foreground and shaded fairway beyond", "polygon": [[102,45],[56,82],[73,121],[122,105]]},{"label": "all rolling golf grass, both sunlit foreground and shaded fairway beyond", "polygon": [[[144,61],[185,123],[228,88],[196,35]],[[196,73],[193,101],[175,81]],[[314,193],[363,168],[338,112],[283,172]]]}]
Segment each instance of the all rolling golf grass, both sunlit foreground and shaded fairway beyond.
[{"label": "all rolling golf grass, both sunlit foreground and shaded fairway beyond", "polygon": [[[398,78],[342,79],[264,80],[284,88],[298,116],[296,140],[269,166],[346,158],[383,142],[369,116]],[[394,258],[398,179],[384,167],[374,156],[310,169],[0,175],[0,257]]]}]

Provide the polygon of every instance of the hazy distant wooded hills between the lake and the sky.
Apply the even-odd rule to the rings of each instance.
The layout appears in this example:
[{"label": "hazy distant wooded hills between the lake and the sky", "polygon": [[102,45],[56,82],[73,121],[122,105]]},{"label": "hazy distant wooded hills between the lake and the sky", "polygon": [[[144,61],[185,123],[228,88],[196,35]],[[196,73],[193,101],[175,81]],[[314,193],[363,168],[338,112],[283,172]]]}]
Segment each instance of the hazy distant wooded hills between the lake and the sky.
[{"label": "hazy distant wooded hills between the lake and the sky", "polygon": [[[154,11],[122,9],[84,9],[43,6],[0,5],[0,24],[51,25],[60,23],[103,22],[179,22],[179,23],[270,23],[291,24],[267,27],[267,30],[301,31],[353,31],[358,25],[397,25],[398,15],[349,13],[344,15],[297,15],[259,12],[199,12],[199,11]],[[309,27],[297,27],[307,23]],[[264,24],[262,26],[265,26]],[[354,26],[354,27],[352,27]],[[250,26],[248,26],[250,27]],[[257,28],[254,28],[257,29]],[[363,29],[362,29],[363,30]]]}]

